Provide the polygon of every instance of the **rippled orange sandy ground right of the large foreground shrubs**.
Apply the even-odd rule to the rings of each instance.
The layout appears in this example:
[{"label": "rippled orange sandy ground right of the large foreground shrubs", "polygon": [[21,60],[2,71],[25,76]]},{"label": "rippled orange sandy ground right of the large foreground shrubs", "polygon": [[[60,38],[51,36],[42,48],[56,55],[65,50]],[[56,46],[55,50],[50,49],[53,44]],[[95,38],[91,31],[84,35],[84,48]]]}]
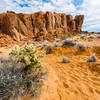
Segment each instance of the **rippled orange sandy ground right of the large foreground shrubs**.
[{"label": "rippled orange sandy ground right of the large foreground shrubs", "polygon": [[[48,79],[44,81],[40,97],[32,100],[100,100],[100,39],[82,40],[79,36],[73,39],[84,43],[86,50],[59,47],[46,55],[42,64],[48,71]],[[5,54],[7,48],[3,50]],[[87,60],[93,53],[98,62],[89,64]],[[70,63],[62,63],[62,56],[68,57]]]}]

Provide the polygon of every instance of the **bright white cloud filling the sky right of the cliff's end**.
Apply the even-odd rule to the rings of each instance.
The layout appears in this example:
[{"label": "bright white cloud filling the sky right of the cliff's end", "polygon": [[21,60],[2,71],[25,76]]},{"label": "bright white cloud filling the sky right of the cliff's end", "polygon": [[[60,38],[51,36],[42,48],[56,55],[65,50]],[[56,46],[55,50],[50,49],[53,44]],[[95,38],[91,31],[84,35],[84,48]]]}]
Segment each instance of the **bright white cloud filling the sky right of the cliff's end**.
[{"label": "bright white cloud filling the sky right of the cliff's end", "polygon": [[100,31],[100,0],[84,0],[82,5],[85,15],[86,29],[88,31]]}]

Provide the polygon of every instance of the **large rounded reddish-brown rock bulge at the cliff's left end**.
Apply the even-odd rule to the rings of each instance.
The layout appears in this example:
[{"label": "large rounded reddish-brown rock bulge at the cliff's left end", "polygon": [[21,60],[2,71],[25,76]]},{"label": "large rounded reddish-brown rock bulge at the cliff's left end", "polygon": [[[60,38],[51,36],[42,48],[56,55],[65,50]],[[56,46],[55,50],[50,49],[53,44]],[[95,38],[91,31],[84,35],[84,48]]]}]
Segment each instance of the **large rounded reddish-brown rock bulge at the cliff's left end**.
[{"label": "large rounded reddish-brown rock bulge at the cliff's left end", "polygon": [[14,13],[5,13],[0,26],[3,33],[10,35],[15,40],[20,40],[28,34],[28,29]]}]

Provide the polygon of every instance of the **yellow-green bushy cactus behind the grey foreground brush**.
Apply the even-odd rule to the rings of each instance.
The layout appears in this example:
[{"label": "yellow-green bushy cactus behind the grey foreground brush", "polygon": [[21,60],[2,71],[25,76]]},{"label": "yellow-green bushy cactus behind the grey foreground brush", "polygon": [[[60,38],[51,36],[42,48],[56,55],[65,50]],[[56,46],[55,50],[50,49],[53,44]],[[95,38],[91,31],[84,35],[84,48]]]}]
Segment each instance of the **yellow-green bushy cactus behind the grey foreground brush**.
[{"label": "yellow-green bushy cactus behind the grey foreground brush", "polygon": [[42,58],[45,52],[36,56],[36,50],[33,45],[24,45],[23,47],[15,46],[10,55],[14,57],[17,62],[21,62],[25,67],[40,66],[40,58]]}]

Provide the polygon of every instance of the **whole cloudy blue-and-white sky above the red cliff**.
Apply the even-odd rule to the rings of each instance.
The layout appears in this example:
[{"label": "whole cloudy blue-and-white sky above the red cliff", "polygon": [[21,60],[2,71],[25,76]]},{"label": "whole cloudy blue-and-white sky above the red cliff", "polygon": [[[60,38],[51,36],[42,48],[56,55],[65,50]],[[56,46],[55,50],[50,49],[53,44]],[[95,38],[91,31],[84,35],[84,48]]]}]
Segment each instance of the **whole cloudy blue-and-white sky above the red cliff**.
[{"label": "whole cloudy blue-and-white sky above the red cliff", "polygon": [[12,10],[17,13],[51,11],[84,14],[83,30],[100,32],[100,0],[2,0],[0,13]]}]

